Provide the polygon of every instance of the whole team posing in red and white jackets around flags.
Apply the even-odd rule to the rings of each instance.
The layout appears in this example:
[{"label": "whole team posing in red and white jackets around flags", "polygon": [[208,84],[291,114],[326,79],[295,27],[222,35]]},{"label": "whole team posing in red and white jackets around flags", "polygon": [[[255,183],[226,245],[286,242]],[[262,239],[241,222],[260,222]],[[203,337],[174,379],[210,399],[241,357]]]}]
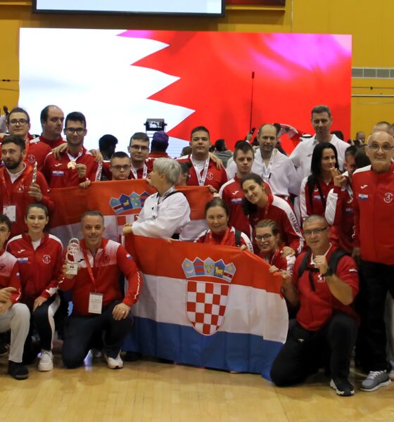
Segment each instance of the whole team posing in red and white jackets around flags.
[{"label": "whole team posing in red and white jackets around flags", "polygon": [[[352,395],[355,345],[357,364],[367,372],[361,389],[390,383],[383,313],[387,293],[394,293],[392,125],[379,122],[366,144],[349,146],[331,134],[331,110],[316,106],[314,136],[290,156],[277,148],[277,126],[262,124],[258,148],[237,142],[224,168],[210,153],[203,126],[191,131],[190,153],[172,160],[165,132],[156,132],[151,145],[146,134],[133,134],[128,153],[115,152],[116,139],[106,135],[100,149],[89,152],[82,113],[64,117],[57,106],[47,106],[40,118],[42,135],[34,138],[29,115],[14,108],[7,117],[9,134],[1,139],[0,331],[11,326],[12,376],[27,378],[23,362],[37,357],[32,333],[40,339],[39,370],[52,369],[61,290],[71,291],[73,304],[65,324],[65,366],[79,366],[94,348],[103,350],[110,368],[122,367],[120,347],[142,287],[139,269],[122,245],[103,237],[103,216],[96,210],[82,215],[83,238],[72,259],[44,228],[55,207],[53,188],[148,179],[157,193],[125,225],[125,236],[234,246],[259,255],[269,271],[281,274],[295,322],[272,366],[274,383],[300,383],[325,366],[337,394]],[[201,204],[201,225],[191,224],[188,200],[177,186],[210,189],[212,200]],[[120,274],[128,280],[126,293]]]}]

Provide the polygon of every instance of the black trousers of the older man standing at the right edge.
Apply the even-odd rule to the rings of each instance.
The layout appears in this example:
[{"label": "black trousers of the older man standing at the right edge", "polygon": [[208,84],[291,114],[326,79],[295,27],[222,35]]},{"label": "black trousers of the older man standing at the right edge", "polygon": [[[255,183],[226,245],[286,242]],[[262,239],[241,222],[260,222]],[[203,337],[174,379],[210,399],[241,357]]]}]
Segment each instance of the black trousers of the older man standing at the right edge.
[{"label": "black trousers of the older man standing at the right edge", "polygon": [[394,298],[394,265],[361,261],[357,311],[361,316],[357,357],[366,371],[383,371],[386,362],[384,309],[387,292]]}]

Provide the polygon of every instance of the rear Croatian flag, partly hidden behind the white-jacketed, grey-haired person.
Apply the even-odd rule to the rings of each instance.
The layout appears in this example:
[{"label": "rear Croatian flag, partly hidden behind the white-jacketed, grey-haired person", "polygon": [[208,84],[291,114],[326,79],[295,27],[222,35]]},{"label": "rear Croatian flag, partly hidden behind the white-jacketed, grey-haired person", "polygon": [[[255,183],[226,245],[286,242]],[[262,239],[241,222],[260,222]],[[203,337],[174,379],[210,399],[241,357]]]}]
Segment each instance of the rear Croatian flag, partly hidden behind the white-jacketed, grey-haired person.
[{"label": "rear Croatian flag, partly hidden behind the white-jacketed, grey-haired person", "polygon": [[[186,186],[177,188],[186,196],[190,208],[191,229],[201,233],[205,227],[204,207],[212,198],[208,186]],[[67,245],[70,238],[81,237],[81,215],[87,210],[98,210],[104,216],[104,236],[121,241],[122,228],[138,218],[146,198],[155,189],[145,179],[125,181],[98,181],[87,189],[80,186],[52,189],[51,198],[56,210],[51,215],[51,234]],[[202,229],[201,229],[202,227]]]}]

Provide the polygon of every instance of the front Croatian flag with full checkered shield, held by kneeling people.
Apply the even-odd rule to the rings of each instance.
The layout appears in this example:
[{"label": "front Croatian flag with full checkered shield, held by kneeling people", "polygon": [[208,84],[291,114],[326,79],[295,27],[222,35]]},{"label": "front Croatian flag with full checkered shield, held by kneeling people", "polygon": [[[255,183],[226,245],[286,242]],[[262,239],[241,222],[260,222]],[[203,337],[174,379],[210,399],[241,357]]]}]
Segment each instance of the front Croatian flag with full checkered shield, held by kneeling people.
[{"label": "front Croatian flag with full checkered shield, held by kneeling people", "polygon": [[125,236],[144,274],[123,349],[174,362],[260,373],[286,340],[281,276],[230,246]]}]

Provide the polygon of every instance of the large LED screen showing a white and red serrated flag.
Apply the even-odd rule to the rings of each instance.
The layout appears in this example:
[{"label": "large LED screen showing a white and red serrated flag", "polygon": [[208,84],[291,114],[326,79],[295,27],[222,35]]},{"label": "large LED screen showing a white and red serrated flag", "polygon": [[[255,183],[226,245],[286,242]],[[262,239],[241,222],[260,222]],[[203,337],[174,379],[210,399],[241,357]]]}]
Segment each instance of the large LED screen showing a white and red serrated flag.
[{"label": "large LED screen showing a white and red serrated flag", "polygon": [[20,106],[39,134],[48,104],[87,116],[87,146],[120,140],[163,118],[170,155],[193,127],[229,146],[265,122],[312,133],[310,110],[328,105],[331,129],[350,137],[351,37],[134,30],[20,30]]}]

